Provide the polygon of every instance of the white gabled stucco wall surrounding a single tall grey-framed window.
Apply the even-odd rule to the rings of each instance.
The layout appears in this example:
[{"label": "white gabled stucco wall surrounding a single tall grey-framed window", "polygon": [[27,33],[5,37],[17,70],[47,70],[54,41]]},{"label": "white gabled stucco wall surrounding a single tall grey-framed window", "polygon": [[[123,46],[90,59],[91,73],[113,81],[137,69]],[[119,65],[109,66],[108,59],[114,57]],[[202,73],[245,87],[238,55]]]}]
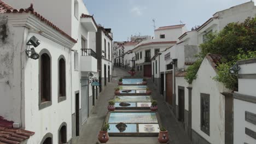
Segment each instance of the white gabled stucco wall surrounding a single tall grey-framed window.
[{"label": "white gabled stucco wall surrounding a single tall grey-framed window", "polygon": [[[207,58],[197,71],[192,86],[192,129],[210,143],[225,143],[225,99],[221,92],[228,92],[222,83],[212,78],[217,73]],[[210,136],[201,131],[200,93],[210,94]]]}]

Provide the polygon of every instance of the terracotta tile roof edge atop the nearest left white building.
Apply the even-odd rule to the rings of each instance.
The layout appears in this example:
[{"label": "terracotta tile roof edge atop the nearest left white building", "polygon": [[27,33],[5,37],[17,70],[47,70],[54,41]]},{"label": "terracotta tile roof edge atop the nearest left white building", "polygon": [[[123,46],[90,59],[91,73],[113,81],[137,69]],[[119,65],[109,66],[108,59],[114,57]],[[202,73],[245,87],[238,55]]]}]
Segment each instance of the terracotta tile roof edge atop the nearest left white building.
[{"label": "terracotta tile roof edge atop the nearest left white building", "polygon": [[31,13],[32,15],[36,16],[38,19],[40,19],[42,22],[46,23],[46,25],[49,25],[62,35],[64,35],[69,40],[73,41],[74,43],[77,43],[77,40],[73,39],[71,36],[69,36],[67,33],[63,32],[59,27],[55,26],[53,23],[51,23],[49,20],[45,19],[42,15],[38,14],[36,11],[34,11],[33,4],[30,5],[27,9],[13,9],[8,4],[4,3],[0,0],[0,13]]}]

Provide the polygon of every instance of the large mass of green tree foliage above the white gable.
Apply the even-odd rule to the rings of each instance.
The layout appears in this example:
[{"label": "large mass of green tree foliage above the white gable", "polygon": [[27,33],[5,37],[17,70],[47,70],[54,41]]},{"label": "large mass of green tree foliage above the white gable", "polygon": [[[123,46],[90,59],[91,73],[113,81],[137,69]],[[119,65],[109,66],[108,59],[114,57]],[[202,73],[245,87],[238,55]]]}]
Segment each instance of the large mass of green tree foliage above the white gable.
[{"label": "large mass of green tree foliage above the white gable", "polygon": [[191,83],[196,79],[200,61],[207,53],[222,55],[222,64],[218,65],[218,76],[214,80],[223,82],[227,88],[237,87],[237,76],[229,74],[229,68],[236,61],[256,57],[256,17],[246,19],[242,23],[229,23],[219,33],[207,34],[207,41],[200,44],[199,61],[187,69],[185,79]]}]

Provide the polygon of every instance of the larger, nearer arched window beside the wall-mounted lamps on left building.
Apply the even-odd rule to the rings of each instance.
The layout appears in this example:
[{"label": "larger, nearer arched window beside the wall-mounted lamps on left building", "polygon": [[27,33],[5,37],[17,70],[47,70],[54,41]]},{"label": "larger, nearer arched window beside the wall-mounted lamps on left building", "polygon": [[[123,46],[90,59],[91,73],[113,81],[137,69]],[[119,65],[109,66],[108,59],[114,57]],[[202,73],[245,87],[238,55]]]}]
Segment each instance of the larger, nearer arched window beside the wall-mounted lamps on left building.
[{"label": "larger, nearer arched window beside the wall-mounted lamps on left building", "polygon": [[51,56],[46,49],[39,58],[39,109],[51,105]]}]

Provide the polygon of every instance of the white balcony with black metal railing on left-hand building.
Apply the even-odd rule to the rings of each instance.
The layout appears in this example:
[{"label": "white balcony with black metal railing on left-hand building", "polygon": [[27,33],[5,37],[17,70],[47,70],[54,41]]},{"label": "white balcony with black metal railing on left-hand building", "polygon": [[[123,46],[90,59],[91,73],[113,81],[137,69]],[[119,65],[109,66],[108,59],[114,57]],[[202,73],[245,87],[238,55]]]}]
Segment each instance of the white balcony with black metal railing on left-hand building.
[{"label": "white balcony with black metal railing on left-hand building", "polygon": [[81,49],[80,69],[81,71],[97,72],[96,52],[91,49]]}]

